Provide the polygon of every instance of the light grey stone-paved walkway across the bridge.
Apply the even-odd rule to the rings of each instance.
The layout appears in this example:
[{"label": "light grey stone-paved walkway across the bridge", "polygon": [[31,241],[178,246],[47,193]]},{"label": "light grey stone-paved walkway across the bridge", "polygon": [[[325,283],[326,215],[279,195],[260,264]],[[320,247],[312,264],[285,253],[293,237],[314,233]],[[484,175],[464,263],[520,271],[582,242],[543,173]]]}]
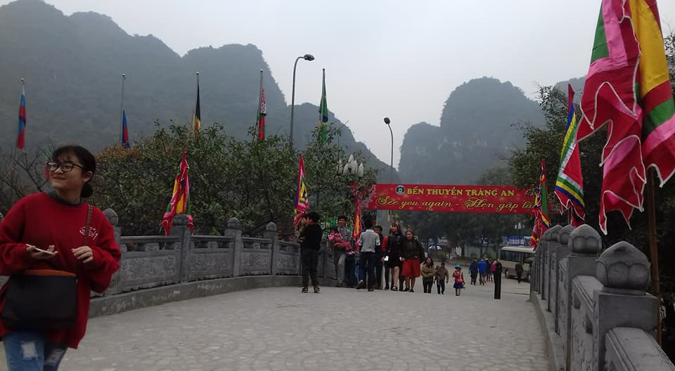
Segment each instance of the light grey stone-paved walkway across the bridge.
[{"label": "light grey stone-paved walkway across the bridge", "polygon": [[504,281],[500,301],[491,283],[461,297],[423,294],[420,283],[412,294],[255,289],[93,318],[61,369],[547,369],[526,282]]}]

